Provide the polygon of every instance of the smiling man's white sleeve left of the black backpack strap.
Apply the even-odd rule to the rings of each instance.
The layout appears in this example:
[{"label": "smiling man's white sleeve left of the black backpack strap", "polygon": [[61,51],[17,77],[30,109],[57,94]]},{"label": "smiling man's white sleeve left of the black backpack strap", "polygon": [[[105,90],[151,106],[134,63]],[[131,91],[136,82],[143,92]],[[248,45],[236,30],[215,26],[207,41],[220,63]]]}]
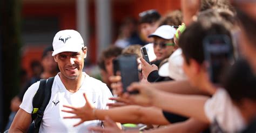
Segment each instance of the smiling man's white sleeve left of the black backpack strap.
[{"label": "smiling man's white sleeve left of the black backpack strap", "polygon": [[20,108],[22,108],[29,114],[32,113],[32,110],[33,110],[32,101],[33,101],[34,95],[36,94],[36,92],[38,90],[39,84],[40,84],[40,82],[36,82],[28,88],[28,90],[24,94],[22,104],[19,106]]}]

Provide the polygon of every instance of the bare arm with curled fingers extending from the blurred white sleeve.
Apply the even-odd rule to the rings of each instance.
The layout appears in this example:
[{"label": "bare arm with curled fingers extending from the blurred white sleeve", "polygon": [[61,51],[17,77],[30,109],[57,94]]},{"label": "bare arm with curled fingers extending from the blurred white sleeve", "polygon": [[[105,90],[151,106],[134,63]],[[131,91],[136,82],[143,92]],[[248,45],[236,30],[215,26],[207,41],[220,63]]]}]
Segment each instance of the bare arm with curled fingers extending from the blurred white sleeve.
[{"label": "bare arm with curled fingers extending from the blurred white sleeve", "polygon": [[127,94],[127,99],[143,106],[156,106],[163,110],[186,117],[194,117],[209,123],[204,113],[204,105],[209,97],[202,95],[183,95],[166,93],[146,84],[132,84],[128,91],[138,90],[139,94]]}]

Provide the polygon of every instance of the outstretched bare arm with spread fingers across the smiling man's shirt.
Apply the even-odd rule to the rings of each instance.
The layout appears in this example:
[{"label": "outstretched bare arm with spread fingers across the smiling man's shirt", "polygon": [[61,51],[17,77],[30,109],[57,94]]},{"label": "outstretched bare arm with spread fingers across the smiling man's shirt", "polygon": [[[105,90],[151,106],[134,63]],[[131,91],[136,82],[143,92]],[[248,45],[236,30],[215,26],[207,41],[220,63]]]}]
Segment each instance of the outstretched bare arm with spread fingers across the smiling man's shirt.
[{"label": "outstretched bare arm with spread fingers across the smiling man's shirt", "polygon": [[[121,123],[169,124],[165,119],[162,110],[156,107],[131,105],[111,108],[108,110],[96,109],[92,107],[85,94],[84,96],[86,100],[85,106],[79,108],[64,106],[71,108],[72,110],[62,110],[63,112],[75,114],[75,116],[64,117],[64,119],[81,119],[81,121],[75,124],[75,126],[83,123],[84,121],[104,120],[105,116],[109,116],[113,121]],[[156,117],[158,119],[156,119]]]}]

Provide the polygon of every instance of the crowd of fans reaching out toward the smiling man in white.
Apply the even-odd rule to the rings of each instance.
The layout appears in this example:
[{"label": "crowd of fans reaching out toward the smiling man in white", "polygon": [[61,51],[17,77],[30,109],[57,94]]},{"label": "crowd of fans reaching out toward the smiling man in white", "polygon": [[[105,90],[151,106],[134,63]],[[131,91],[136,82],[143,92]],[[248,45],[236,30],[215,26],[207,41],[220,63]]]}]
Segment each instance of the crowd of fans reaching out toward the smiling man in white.
[{"label": "crowd of fans reaching out toward the smiling man in white", "polygon": [[[98,109],[85,94],[85,106],[65,106],[62,111],[72,115],[64,119],[80,119],[73,123],[76,126],[105,120],[108,126],[90,128],[102,132],[255,132],[255,7],[255,1],[181,0],[181,11],[165,16],[157,10],[139,13],[139,31],[133,19],[126,19],[118,40],[98,60],[102,82],[116,102],[108,104],[109,109]],[[181,26],[185,31],[179,30]],[[208,60],[205,40],[214,36],[225,39],[230,60],[227,55]],[[211,43],[223,43],[218,41]],[[150,64],[140,53],[142,47]],[[113,71],[113,60],[120,55],[136,55],[138,63],[139,71],[134,71],[140,81],[126,92],[122,77]],[[216,60],[225,61],[214,64]],[[213,71],[216,65],[223,69]],[[218,74],[217,83],[212,76]],[[16,100],[21,102],[22,97]]]}]

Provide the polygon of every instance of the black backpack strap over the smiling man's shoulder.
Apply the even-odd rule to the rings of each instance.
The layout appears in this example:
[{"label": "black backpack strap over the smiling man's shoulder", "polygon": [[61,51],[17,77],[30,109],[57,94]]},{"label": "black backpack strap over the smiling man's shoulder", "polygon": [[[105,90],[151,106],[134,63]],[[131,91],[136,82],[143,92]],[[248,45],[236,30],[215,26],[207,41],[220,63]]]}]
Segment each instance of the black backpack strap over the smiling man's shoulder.
[{"label": "black backpack strap over the smiling man's shoulder", "polygon": [[28,132],[39,132],[39,128],[43,119],[44,110],[51,99],[51,87],[54,77],[41,79],[39,88],[33,97],[32,105],[33,110],[31,113],[32,123]]}]

